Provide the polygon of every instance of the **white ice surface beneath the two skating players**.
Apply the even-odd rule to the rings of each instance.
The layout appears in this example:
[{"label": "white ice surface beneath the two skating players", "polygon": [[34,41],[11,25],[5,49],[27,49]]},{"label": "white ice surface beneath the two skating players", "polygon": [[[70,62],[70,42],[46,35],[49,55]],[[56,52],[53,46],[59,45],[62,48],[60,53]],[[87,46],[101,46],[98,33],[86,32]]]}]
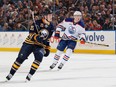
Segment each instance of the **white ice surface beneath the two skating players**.
[{"label": "white ice surface beneath the two skating players", "polygon": [[[73,54],[63,69],[52,71],[54,53],[44,58],[30,82],[25,83],[31,63],[31,54],[14,77],[3,83],[17,52],[0,52],[0,87],[116,87],[116,55]],[[59,61],[60,62],[60,61]]]}]

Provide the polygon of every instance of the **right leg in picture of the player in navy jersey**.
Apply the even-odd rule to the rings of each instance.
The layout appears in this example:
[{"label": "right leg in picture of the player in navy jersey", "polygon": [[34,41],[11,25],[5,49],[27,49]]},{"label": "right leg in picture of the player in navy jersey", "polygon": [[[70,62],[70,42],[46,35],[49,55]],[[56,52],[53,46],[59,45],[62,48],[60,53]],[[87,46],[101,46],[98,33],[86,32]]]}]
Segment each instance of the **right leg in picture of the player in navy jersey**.
[{"label": "right leg in picture of the player in navy jersey", "polygon": [[33,61],[31,68],[30,68],[30,71],[26,77],[27,81],[31,80],[31,77],[34,75],[34,73],[36,72],[36,70],[40,66],[40,63],[42,62],[45,50],[43,48],[36,47],[36,49],[34,50],[33,53],[34,53],[35,60]]}]

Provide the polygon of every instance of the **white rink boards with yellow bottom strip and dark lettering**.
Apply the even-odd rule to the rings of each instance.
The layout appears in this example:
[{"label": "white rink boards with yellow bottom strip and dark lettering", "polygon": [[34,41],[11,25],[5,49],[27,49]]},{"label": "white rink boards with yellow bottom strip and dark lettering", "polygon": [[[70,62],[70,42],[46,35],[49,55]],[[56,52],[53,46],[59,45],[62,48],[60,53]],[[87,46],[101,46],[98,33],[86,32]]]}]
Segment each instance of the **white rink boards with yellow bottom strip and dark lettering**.
[{"label": "white rink boards with yellow bottom strip and dark lettering", "polygon": [[[28,32],[0,32],[0,51],[19,51]],[[77,43],[75,53],[116,54],[116,31],[86,31],[86,43]],[[53,37],[51,52],[56,52],[58,40]],[[108,46],[103,46],[103,45]]]}]

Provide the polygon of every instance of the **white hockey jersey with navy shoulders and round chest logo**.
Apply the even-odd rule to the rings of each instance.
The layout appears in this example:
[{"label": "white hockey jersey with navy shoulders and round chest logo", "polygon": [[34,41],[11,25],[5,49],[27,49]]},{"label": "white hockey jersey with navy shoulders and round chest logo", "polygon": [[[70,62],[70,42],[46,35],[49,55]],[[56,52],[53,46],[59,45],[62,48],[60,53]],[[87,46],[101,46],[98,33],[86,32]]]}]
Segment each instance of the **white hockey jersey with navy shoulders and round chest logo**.
[{"label": "white hockey jersey with navy shoulders and round chest logo", "polygon": [[73,23],[73,18],[67,18],[62,23],[60,23],[56,31],[63,31],[61,39],[63,40],[77,40],[80,38],[85,38],[85,28],[84,23],[79,21],[78,23]]}]

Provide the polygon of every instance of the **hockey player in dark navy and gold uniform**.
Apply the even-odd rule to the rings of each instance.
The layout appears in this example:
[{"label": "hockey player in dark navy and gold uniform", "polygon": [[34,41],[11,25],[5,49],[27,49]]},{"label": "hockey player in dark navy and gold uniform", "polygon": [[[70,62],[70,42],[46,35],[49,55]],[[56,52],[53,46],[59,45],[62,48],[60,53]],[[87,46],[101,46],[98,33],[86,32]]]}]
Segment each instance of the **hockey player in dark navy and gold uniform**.
[{"label": "hockey player in dark navy and gold uniform", "polygon": [[52,12],[51,10],[46,9],[43,13],[43,18],[34,21],[33,25],[31,25],[29,29],[29,35],[24,41],[18,57],[11,67],[10,73],[6,77],[7,81],[14,76],[21,64],[28,58],[31,53],[33,53],[35,59],[26,77],[27,81],[31,80],[31,77],[40,66],[43,57],[47,57],[50,53],[49,39],[54,31],[54,26],[51,22]]}]

